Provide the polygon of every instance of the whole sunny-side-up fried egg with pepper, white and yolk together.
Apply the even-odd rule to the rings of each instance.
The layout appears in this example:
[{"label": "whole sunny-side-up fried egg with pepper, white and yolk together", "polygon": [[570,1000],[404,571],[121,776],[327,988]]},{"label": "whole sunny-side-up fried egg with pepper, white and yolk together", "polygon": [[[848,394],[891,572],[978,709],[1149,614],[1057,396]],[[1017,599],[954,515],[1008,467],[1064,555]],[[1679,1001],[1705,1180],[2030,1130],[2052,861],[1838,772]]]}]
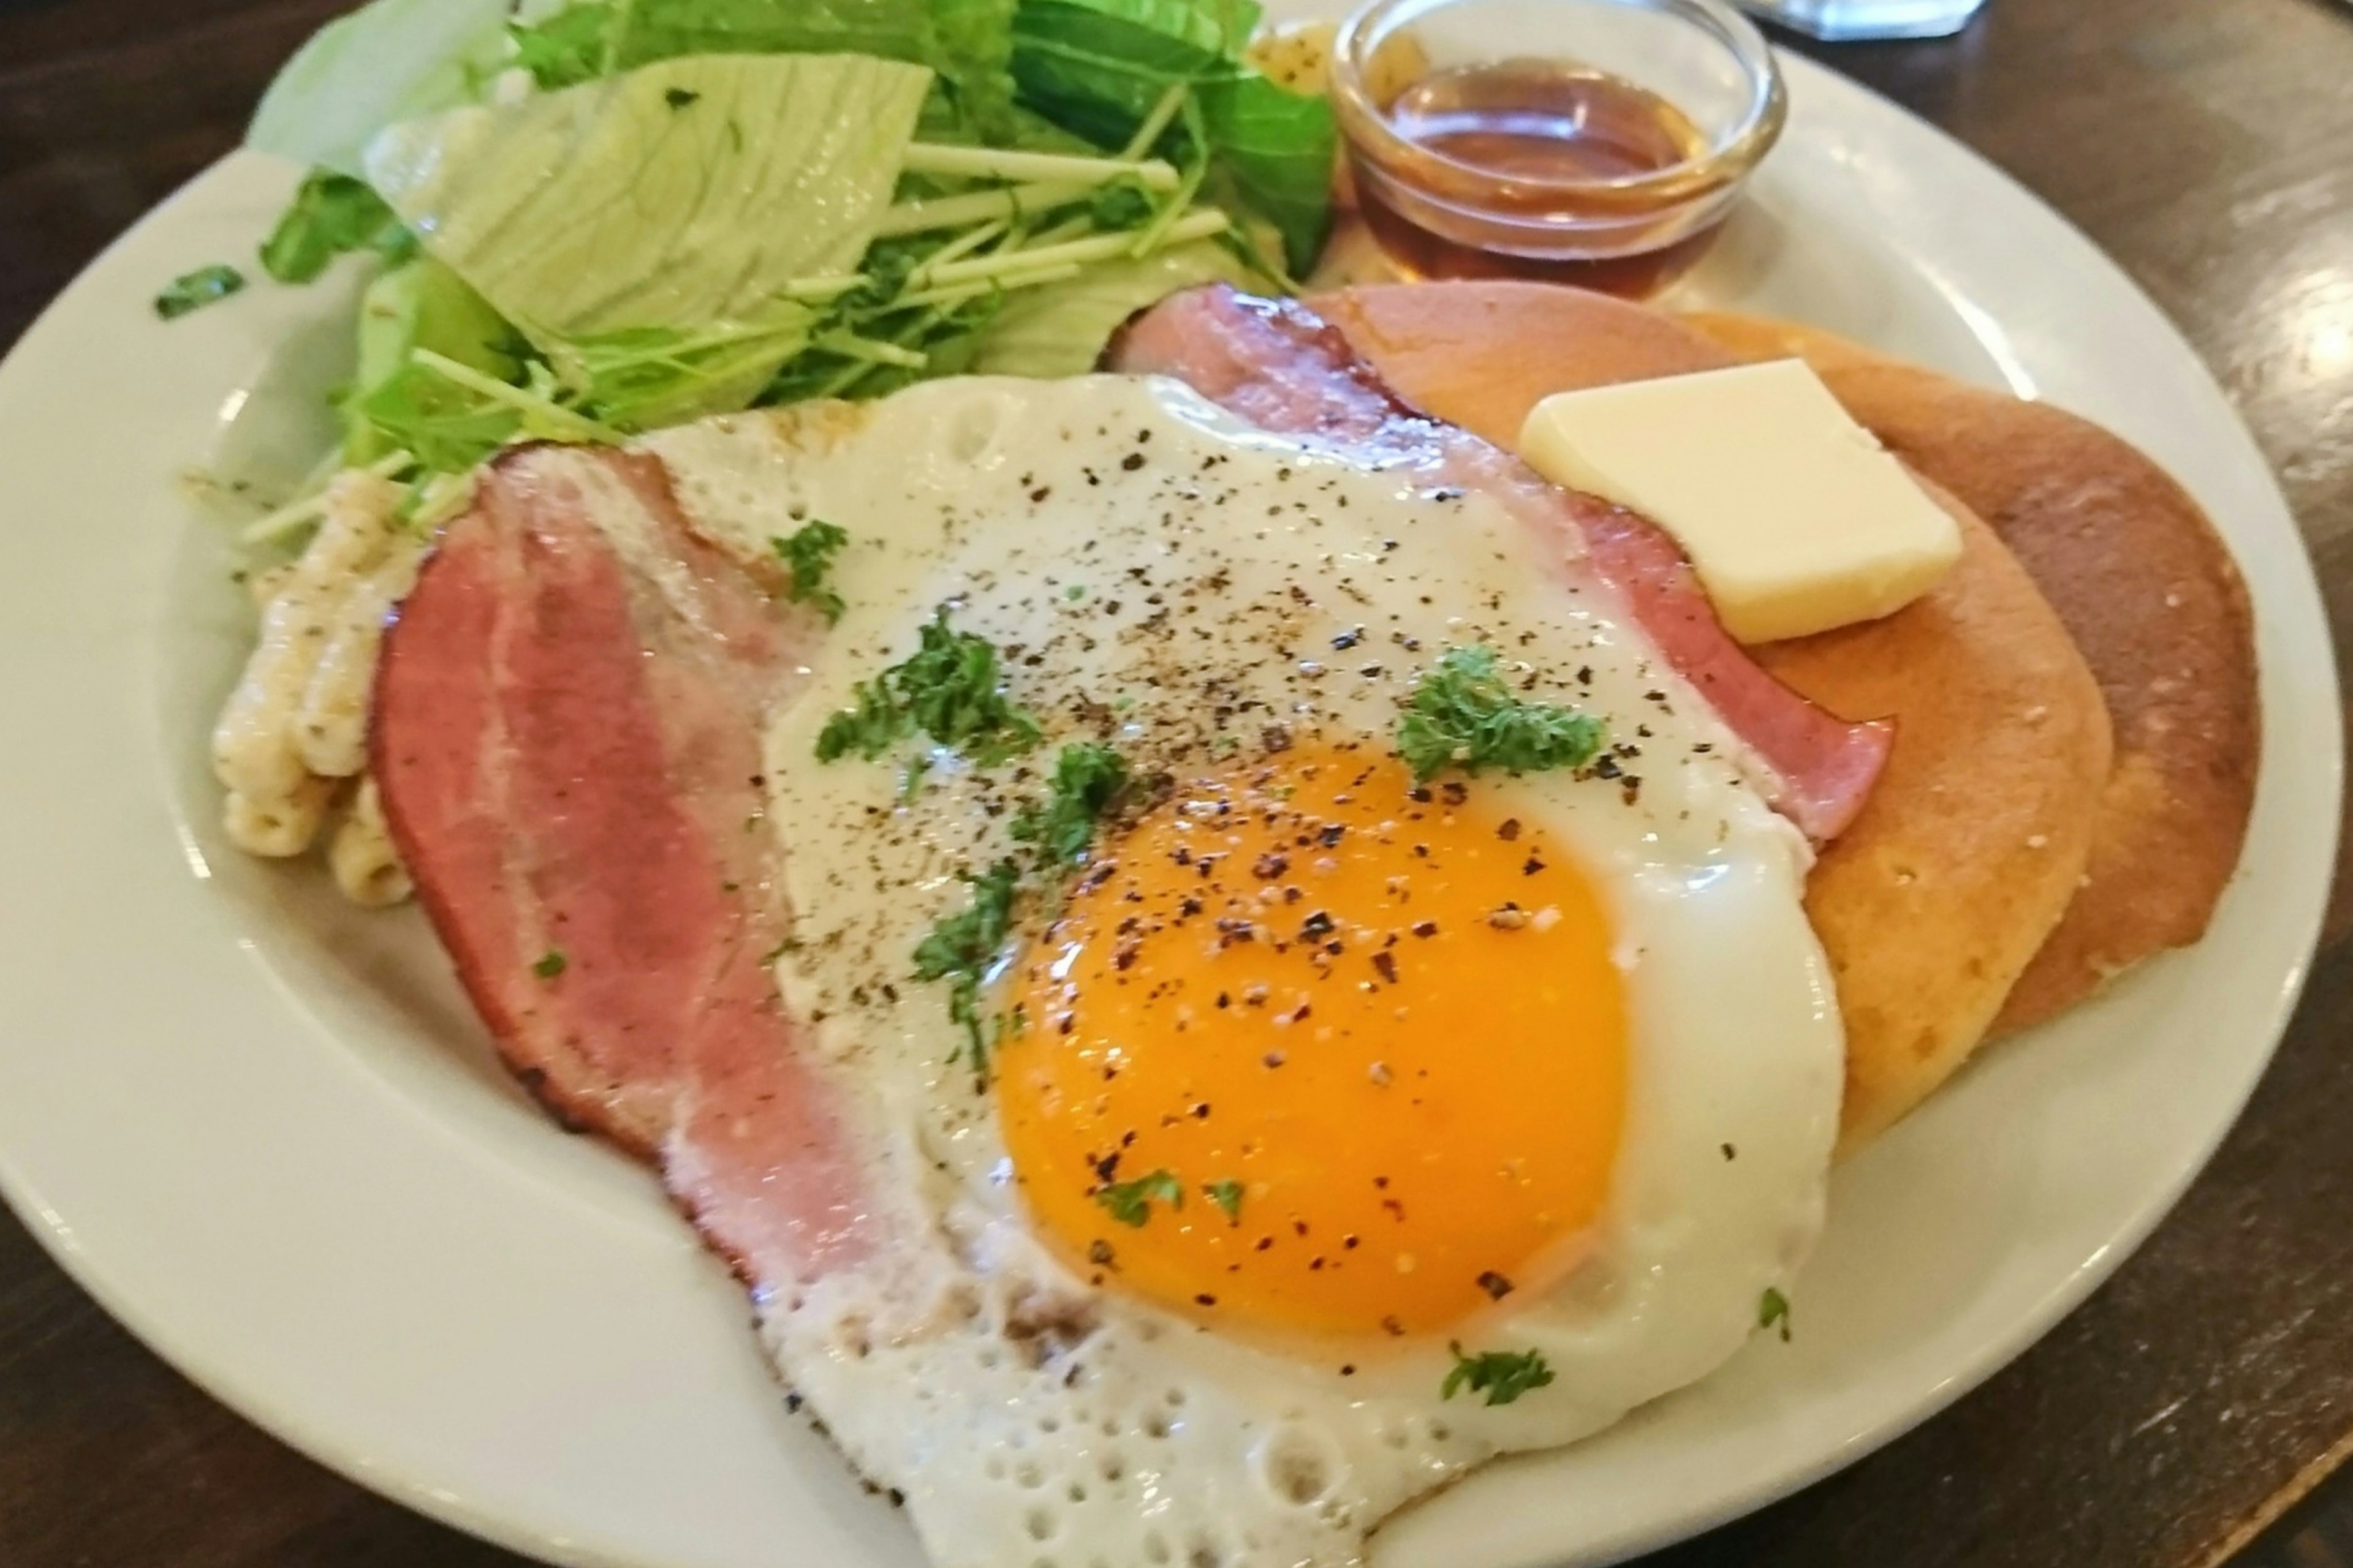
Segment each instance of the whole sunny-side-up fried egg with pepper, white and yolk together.
[{"label": "whole sunny-side-up fried egg with pepper, white and yolk together", "polygon": [[[1353,1563],[1791,1288],[1842,1046],[1807,849],[1558,541],[1151,378],[649,447],[713,534],[847,534],[746,830],[781,837],[779,985],[901,1241],[762,1335],[939,1563]],[[925,628],[995,649],[1035,745],[821,762]],[[1398,719],[1449,649],[1602,752],[1417,783]],[[1026,813],[1064,745],[1132,788],[1049,875]],[[913,954],[998,865],[1012,926],[958,1009]]]}]

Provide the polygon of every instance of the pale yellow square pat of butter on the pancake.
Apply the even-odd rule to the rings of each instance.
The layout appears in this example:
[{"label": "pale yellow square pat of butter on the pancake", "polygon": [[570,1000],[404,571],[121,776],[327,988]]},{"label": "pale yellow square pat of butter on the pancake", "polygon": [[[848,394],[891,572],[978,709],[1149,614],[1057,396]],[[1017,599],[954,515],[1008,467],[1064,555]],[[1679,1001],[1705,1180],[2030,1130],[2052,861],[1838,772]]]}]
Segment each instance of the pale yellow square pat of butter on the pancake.
[{"label": "pale yellow square pat of butter on the pancake", "polygon": [[1875,621],[1960,559],[1953,517],[1802,360],[1555,393],[1520,456],[1673,534],[1741,642]]}]

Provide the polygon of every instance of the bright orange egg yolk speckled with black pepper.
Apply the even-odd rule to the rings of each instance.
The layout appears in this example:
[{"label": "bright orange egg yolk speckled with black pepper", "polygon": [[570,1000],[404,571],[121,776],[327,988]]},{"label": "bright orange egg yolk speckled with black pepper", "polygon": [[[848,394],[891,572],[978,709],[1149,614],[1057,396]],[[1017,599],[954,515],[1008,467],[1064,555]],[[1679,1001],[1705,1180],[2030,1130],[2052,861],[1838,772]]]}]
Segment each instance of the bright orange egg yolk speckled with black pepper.
[{"label": "bright orange egg yolk speckled with black pepper", "polygon": [[1075,1269],[1198,1321],[1407,1335],[1577,1262],[1624,983],[1593,886],[1501,795],[1294,748],[1101,849],[1009,980],[995,1074]]}]

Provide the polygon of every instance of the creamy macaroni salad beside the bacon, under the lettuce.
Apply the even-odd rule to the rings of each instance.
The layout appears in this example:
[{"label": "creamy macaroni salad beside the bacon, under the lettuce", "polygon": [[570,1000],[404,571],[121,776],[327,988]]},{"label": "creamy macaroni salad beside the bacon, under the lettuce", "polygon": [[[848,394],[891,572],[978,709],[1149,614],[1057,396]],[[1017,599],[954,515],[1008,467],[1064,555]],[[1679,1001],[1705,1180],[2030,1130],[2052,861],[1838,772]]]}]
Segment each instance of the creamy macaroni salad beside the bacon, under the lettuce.
[{"label": "creamy macaroni salad beside the bacon, under the lettuce", "polygon": [[329,835],[327,865],[346,896],[369,905],[409,896],[374,780],[362,778],[384,621],[424,555],[400,527],[400,496],[365,470],[334,477],[311,545],[252,583],[261,632],[212,731],[228,839],[256,856],[299,856],[344,795],[351,809]]}]

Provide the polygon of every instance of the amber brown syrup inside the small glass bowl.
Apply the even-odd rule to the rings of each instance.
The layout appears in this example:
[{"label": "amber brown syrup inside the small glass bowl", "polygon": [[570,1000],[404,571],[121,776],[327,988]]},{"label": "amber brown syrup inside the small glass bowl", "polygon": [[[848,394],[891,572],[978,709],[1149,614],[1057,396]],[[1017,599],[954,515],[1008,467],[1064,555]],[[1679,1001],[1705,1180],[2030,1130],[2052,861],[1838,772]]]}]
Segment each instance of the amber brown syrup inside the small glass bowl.
[{"label": "amber brown syrup inside the small glass bowl", "polygon": [[1537,277],[1640,299],[1699,261],[1729,209],[1694,209],[1692,188],[1652,179],[1706,162],[1689,115],[1574,61],[1431,71],[1379,113],[1402,153],[1355,148],[1358,200],[1409,277]]}]

